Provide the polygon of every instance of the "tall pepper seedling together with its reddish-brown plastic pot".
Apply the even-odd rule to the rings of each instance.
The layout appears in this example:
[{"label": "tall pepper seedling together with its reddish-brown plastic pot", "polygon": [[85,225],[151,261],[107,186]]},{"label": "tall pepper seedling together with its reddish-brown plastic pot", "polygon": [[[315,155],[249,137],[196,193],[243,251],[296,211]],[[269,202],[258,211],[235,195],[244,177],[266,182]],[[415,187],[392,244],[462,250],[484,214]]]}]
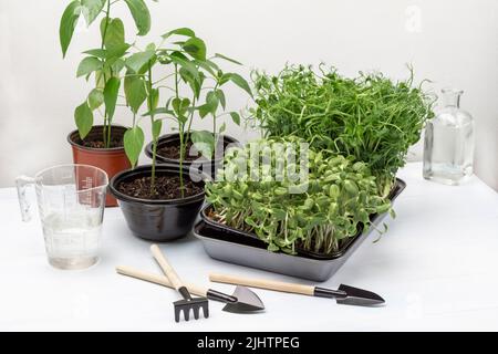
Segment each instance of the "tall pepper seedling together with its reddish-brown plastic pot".
[{"label": "tall pepper seedling together with its reddish-brown plastic pot", "polygon": [[[87,164],[104,169],[110,177],[131,167],[124,149],[124,126],[114,125],[114,113],[120,88],[124,80],[128,51],[132,44],[125,40],[125,28],[120,18],[112,18],[112,9],[117,1],[73,0],[64,10],[60,23],[60,42],[65,58],[74,29],[84,18],[87,25],[100,21],[100,46],[84,52],[76,76],[92,79],[94,87],[83,103],[74,111],[77,129],[68,135],[75,164]],[[133,15],[137,35],[145,35],[151,29],[151,15],[143,0],[123,0]],[[102,116],[102,124],[94,124],[94,114]],[[116,206],[108,195],[107,206]]]}]

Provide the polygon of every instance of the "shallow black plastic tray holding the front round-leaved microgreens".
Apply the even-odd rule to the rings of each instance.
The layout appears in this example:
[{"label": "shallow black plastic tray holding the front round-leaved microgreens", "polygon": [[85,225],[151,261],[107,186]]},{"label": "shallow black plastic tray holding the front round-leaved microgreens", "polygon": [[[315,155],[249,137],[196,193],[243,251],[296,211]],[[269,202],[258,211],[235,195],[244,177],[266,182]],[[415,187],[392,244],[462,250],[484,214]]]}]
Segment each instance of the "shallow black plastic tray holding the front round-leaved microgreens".
[{"label": "shallow black plastic tray holding the front round-leaved microgreens", "polygon": [[[396,185],[390,195],[393,202],[405,189],[406,184],[396,179]],[[267,244],[250,232],[236,230],[209,218],[206,206],[200,216],[201,220],[194,227],[194,235],[203,241],[206,252],[214,259],[229,263],[258,268],[286,275],[326,281],[353,254],[360,244],[374,229],[359,230],[333,254],[313,253],[298,250],[298,254],[271,252]],[[377,227],[386,214],[371,216],[373,226]]]}]

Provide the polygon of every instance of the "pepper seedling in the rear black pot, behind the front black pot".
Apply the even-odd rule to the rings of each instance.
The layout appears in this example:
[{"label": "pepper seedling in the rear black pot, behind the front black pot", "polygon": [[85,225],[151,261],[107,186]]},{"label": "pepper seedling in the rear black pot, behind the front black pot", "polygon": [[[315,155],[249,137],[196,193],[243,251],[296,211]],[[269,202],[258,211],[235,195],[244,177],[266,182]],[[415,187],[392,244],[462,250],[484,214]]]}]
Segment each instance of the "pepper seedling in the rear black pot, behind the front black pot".
[{"label": "pepper seedling in the rear black pot, behind the front black pot", "polygon": [[[205,42],[197,38],[190,29],[169,31],[163,35],[163,40],[173,35],[181,38],[175,42],[181,48],[175,51],[178,58],[189,63],[189,69],[179,64],[175,65],[174,74],[172,74],[173,83],[169,88],[181,91],[181,87],[178,88],[178,86],[185,85],[191,90],[191,96],[186,98],[189,100],[188,115],[184,121],[180,119],[181,124],[178,126],[177,133],[170,133],[151,142],[146,146],[145,153],[151,158],[155,156],[159,163],[174,165],[179,165],[181,160],[183,165],[190,166],[194,162],[199,164],[200,160],[204,170],[215,177],[217,166],[219,166],[227,146],[239,143],[236,138],[224,134],[225,123],[219,124],[221,116],[230,116],[235,124],[240,125],[238,112],[226,112],[227,98],[224,86],[227,83],[234,83],[250,96],[252,93],[241,75],[224,72],[216,61],[222,60],[242,65],[240,62],[219,53],[207,58]],[[211,117],[212,129],[210,132],[193,129],[193,122],[197,115],[200,118]]]}]

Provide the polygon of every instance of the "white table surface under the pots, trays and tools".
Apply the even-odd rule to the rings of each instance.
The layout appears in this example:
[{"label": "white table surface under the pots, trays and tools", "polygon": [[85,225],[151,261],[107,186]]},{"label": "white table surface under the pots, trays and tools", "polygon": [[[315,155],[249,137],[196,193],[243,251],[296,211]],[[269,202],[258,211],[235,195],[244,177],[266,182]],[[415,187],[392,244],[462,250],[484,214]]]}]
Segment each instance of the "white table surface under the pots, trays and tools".
[{"label": "white table surface under the pots, trays and tools", "polygon": [[[377,292],[382,308],[338,305],[329,299],[263,290],[261,314],[231,314],[210,302],[208,320],[173,319],[177,294],[118,275],[117,264],[159,272],[149,242],[131,235],[118,208],[105,211],[100,263],[84,271],[49,266],[38,219],[23,223],[13,188],[0,189],[0,330],[3,331],[435,331],[498,330],[498,194],[473,179],[442,186],[408,164],[407,188],[395,204],[387,235],[373,233],[322,287],[340,283]],[[190,282],[208,285],[209,271],[299,279],[210,259],[193,237],[163,244]],[[229,292],[232,287],[211,284]]]}]

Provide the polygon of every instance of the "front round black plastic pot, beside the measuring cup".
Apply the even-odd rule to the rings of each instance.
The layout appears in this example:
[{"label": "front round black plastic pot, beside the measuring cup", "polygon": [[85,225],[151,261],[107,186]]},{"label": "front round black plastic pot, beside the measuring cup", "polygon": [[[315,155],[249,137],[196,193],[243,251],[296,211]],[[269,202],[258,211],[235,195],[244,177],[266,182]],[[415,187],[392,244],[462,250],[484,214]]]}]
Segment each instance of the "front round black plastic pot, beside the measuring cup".
[{"label": "front round black plastic pot, beside the measuring cup", "polygon": [[[199,181],[203,192],[181,199],[153,200],[141,199],[121,192],[117,189],[123,181],[151,176],[152,166],[141,166],[122,171],[113,177],[110,190],[117,199],[132,232],[146,240],[166,242],[179,239],[190,232],[204,204],[204,180]],[[156,166],[156,176],[178,176],[179,167],[174,165]],[[189,178],[189,169],[184,168],[184,178]]]}]

